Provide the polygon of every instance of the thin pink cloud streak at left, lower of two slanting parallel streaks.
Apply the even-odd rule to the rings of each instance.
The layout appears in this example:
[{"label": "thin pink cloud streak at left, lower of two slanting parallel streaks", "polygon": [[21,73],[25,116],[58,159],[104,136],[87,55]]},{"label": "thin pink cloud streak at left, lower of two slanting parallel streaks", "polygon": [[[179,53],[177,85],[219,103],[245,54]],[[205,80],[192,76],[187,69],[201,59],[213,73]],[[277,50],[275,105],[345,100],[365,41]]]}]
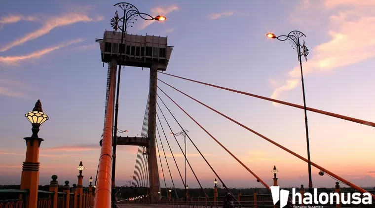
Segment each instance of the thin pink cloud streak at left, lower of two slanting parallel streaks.
[{"label": "thin pink cloud streak at left, lower of two slanting parallel streaks", "polygon": [[4,63],[4,64],[7,64],[7,65],[15,65],[15,64],[18,64],[21,61],[40,58],[40,57],[42,57],[42,56],[44,56],[48,53],[51,53],[52,51],[55,51],[57,49],[67,47],[71,44],[82,42],[82,41],[83,41],[83,39],[75,39],[75,40],[71,40],[71,41],[68,41],[68,42],[63,42],[59,45],[49,47],[49,48],[44,48],[42,50],[38,50],[38,51],[32,52],[32,53],[27,54],[27,55],[0,56],[0,63]]}]

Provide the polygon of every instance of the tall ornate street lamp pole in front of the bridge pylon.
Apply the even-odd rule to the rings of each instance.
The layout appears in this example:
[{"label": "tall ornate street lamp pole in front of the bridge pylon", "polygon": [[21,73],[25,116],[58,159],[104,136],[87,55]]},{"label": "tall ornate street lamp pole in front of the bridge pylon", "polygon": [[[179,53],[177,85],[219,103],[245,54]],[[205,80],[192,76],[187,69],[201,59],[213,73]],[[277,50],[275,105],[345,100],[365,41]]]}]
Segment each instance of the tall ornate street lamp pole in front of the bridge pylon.
[{"label": "tall ornate street lamp pole in front of the bridge pylon", "polygon": [[117,90],[116,90],[116,103],[114,107],[114,127],[113,127],[113,150],[112,150],[112,207],[115,208],[115,171],[116,171],[116,145],[117,145],[117,120],[118,120],[118,98],[120,91],[120,76],[121,76],[121,61],[122,61],[122,46],[124,42],[124,35],[126,34],[126,29],[128,27],[133,27],[131,24],[134,24],[137,21],[137,17],[140,17],[147,21],[157,20],[163,21],[166,20],[164,16],[158,15],[152,17],[149,14],[140,12],[137,7],[131,3],[121,2],[116,3],[113,6],[118,6],[123,11],[123,16],[118,17],[117,11],[114,12],[115,16],[111,19],[111,26],[113,28],[113,35],[119,30],[121,32],[121,44],[119,45],[120,57],[118,57],[118,73],[117,73]]}]

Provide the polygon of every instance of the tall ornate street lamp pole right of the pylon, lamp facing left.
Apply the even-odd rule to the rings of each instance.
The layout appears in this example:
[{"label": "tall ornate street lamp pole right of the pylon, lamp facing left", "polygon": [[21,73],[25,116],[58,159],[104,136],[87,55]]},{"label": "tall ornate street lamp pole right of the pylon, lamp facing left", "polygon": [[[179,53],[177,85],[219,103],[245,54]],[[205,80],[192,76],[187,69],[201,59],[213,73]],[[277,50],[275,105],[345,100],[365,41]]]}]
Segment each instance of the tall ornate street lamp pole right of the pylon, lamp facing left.
[{"label": "tall ornate street lamp pole right of the pylon, lamp facing left", "polygon": [[298,61],[300,61],[300,70],[301,70],[301,81],[302,81],[302,95],[303,95],[303,109],[304,109],[304,115],[305,115],[305,130],[306,130],[306,143],[307,143],[307,166],[308,166],[308,191],[312,193],[312,178],[311,178],[311,160],[310,160],[310,143],[308,139],[308,126],[307,126],[307,110],[306,110],[306,99],[305,99],[305,93],[304,93],[304,83],[303,83],[303,71],[302,71],[302,56],[307,62],[307,55],[308,55],[308,48],[305,45],[305,41],[303,40],[302,45],[300,44],[300,38],[306,37],[302,32],[300,31],[292,31],[288,35],[279,35],[276,36],[273,33],[267,34],[268,38],[272,39],[278,39],[281,41],[288,40],[290,41],[290,44],[292,44],[293,49],[297,51],[298,55]]}]

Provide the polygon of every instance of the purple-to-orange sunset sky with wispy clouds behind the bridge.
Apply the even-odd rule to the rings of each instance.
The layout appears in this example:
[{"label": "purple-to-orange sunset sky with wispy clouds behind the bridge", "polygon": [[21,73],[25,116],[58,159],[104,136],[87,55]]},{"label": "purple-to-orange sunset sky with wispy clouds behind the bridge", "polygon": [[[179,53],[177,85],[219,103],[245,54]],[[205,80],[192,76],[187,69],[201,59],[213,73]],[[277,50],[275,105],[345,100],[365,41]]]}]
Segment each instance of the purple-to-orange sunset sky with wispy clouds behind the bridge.
[{"label": "purple-to-orange sunset sky with wispy clouds behind the bridge", "polygon": [[[302,63],[307,106],[375,121],[374,0],[129,2],[141,12],[167,17],[165,22],[139,19],[128,30],[138,35],[168,35],[168,45],[174,49],[167,73],[302,105],[296,51],[287,41],[265,36],[300,30],[307,36],[304,40],[310,51],[308,61]],[[53,174],[60,184],[65,180],[76,183],[79,161],[86,167],[84,185],[90,176],[95,178],[107,81],[107,65],[103,67],[95,38],[112,30],[110,19],[119,9],[113,7],[115,3],[23,0],[7,1],[0,7],[0,184],[20,183],[26,152],[23,138],[31,136],[24,114],[38,99],[50,118],[39,132],[44,139],[39,183],[48,184]],[[165,74],[159,78],[307,157],[303,110]],[[307,187],[305,162],[167,85],[159,82],[158,86],[268,185],[272,185],[275,165],[279,185]],[[122,70],[118,129],[129,132],[119,135],[141,135],[148,90],[149,69]],[[158,94],[228,187],[261,187],[163,93]],[[162,110],[173,131],[180,132],[163,106]],[[375,186],[375,128],[313,112],[307,112],[307,117],[311,160],[356,185]],[[162,126],[184,170],[183,155],[163,119]],[[183,187],[162,132],[161,136],[175,185]],[[137,149],[117,147],[116,185],[131,180]],[[169,187],[172,183],[161,148],[160,152]],[[202,185],[212,187],[216,176],[190,141],[187,155]],[[312,168],[314,187],[333,187],[336,181],[318,175],[319,171]],[[187,184],[198,187],[189,169]]]}]

